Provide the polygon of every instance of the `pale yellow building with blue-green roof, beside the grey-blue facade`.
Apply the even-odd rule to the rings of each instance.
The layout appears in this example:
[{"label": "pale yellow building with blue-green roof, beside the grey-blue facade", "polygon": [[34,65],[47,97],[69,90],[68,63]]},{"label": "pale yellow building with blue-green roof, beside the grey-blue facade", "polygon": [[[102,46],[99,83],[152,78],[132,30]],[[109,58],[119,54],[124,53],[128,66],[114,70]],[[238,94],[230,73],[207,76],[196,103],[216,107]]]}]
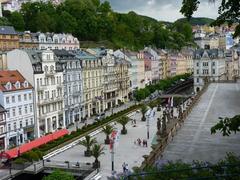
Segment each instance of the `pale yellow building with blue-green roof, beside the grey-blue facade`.
[{"label": "pale yellow building with blue-green roof, beside the grey-blue facade", "polygon": [[100,49],[87,51],[76,51],[76,57],[82,61],[84,118],[105,110],[104,67],[100,58],[102,51]]}]

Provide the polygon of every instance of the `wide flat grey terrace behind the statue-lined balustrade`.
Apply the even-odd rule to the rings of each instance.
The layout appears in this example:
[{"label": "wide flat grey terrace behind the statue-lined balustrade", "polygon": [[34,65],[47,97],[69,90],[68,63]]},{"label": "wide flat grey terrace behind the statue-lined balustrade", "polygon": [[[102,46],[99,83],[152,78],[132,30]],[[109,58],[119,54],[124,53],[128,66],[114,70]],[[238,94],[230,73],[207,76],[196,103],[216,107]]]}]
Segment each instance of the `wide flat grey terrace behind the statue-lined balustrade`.
[{"label": "wide flat grey terrace behind the statue-lined balustrade", "polygon": [[216,162],[224,158],[227,152],[240,155],[240,133],[229,137],[210,133],[218,117],[232,117],[239,113],[240,84],[210,84],[165,149],[162,159]]}]

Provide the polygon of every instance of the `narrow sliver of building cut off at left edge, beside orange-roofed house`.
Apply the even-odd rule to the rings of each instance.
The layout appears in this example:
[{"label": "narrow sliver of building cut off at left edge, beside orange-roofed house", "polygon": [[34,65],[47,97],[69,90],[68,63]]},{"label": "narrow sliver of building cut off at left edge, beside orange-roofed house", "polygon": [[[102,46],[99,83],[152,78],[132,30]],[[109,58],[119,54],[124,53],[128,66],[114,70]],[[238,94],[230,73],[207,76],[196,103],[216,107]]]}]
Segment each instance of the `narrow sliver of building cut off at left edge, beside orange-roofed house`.
[{"label": "narrow sliver of building cut off at left edge, beside orange-roofed house", "polygon": [[6,112],[0,105],[0,151],[6,149]]}]

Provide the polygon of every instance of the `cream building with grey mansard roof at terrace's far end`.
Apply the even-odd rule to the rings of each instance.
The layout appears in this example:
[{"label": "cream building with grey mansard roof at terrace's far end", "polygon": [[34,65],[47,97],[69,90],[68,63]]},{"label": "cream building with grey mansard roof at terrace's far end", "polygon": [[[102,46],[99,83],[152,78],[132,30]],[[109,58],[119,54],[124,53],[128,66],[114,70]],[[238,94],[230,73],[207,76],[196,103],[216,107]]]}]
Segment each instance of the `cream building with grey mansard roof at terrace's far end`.
[{"label": "cream building with grey mansard roof at terrace's far end", "polygon": [[194,91],[206,82],[225,80],[225,55],[219,49],[198,49],[194,52]]}]

